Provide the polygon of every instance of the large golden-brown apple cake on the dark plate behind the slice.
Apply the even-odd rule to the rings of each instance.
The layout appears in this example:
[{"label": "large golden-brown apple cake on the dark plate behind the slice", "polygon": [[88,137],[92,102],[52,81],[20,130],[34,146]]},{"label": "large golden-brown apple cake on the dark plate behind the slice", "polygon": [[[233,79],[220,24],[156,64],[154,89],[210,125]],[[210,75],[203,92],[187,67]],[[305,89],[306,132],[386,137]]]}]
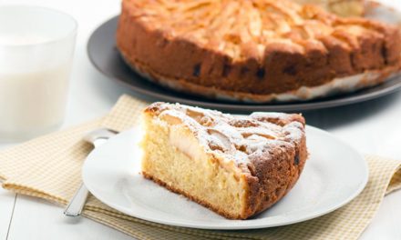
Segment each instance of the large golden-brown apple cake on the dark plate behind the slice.
[{"label": "large golden-brown apple cake on the dark plate behind the slice", "polygon": [[159,85],[259,103],[377,85],[401,56],[396,26],[287,0],[123,0],[117,46]]}]

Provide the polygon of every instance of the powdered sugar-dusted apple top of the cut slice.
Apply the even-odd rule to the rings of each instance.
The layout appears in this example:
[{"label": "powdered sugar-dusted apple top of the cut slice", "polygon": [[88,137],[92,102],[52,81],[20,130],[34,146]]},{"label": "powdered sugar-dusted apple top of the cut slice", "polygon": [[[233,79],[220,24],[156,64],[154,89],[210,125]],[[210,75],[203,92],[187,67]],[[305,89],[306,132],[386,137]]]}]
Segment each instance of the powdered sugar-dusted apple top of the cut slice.
[{"label": "powdered sugar-dusted apple top of the cut slice", "polygon": [[157,117],[168,119],[171,124],[185,125],[207,152],[222,156],[222,160],[237,166],[246,165],[250,155],[262,155],[264,149],[270,147],[295,147],[304,136],[304,126],[293,120],[294,115],[228,115],[215,110],[165,103],[149,105],[148,109]]}]

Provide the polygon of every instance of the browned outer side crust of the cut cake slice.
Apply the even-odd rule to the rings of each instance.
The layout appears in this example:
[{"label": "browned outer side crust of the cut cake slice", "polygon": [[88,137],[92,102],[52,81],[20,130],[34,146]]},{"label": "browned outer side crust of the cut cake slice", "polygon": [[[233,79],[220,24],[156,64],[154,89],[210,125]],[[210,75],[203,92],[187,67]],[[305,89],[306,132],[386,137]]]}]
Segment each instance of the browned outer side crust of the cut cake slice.
[{"label": "browned outer side crust of the cut cake slice", "polygon": [[[302,115],[258,117],[258,120],[282,126],[292,122],[305,125]],[[251,155],[252,175],[247,175],[250,191],[246,215],[256,215],[277,203],[301,175],[308,157],[306,137],[303,135],[295,141],[290,137],[287,141],[289,145],[267,147],[263,155]]]}]

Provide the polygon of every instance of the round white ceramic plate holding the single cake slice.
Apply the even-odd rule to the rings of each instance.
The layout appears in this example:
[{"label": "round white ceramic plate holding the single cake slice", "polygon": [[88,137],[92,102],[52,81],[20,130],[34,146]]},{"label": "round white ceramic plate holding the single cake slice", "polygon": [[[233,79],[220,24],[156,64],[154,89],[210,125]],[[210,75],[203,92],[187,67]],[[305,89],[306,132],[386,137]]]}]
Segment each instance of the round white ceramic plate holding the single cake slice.
[{"label": "round white ceramic plate holding the single cake slice", "polygon": [[95,149],[83,166],[83,180],[100,201],[151,222],[202,229],[254,229],[290,225],[328,214],[365,187],[365,159],[328,133],[307,126],[310,157],[293,190],[272,208],[249,220],[228,220],[171,193],[140,172],[139,133],[134,129]]}]

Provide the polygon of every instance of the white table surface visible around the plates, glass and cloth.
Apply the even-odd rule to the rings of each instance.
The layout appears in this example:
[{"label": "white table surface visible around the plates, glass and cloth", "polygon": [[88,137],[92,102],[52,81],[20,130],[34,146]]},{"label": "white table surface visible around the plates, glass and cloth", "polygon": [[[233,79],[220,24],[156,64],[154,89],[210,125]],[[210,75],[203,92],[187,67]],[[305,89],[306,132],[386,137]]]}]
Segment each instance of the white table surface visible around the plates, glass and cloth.
[{"label": "white table surface visible around the plates, glass and cloth", "polygon": [[[383,0],[401,10],[401,2]],[[109,81],[90,65],[87,39],[94,29],[118,15],[117,0],[0,0],[0,5],[42,5],[73,15],[78,22],[77,48],[64,127],[105,115],[119,95],[135,95]],[[304,114],[309,125],[329,131],[361,153],[401,158],[401,93],[374,101]],[[0,144],[5,148],[7,144]],[[132,239],[117,230],[82,218],[43,200],[0,188],[0,239]],[[401,239],[401,191],[386,196],[362,239]]]}]

